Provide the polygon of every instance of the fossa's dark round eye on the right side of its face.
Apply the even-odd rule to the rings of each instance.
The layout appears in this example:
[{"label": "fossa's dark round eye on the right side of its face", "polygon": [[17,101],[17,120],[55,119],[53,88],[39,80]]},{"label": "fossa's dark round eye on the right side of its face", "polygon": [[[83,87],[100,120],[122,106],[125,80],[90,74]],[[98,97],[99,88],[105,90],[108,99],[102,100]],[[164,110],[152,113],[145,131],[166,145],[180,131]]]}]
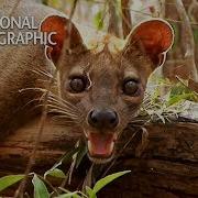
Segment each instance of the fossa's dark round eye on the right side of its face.
[{"label": "fossa's dark round eye on the right side of its face", "polygon": [[139,91],[139,81],[136,79],[125,79],[122,85],[124,95],[136,96]]}]

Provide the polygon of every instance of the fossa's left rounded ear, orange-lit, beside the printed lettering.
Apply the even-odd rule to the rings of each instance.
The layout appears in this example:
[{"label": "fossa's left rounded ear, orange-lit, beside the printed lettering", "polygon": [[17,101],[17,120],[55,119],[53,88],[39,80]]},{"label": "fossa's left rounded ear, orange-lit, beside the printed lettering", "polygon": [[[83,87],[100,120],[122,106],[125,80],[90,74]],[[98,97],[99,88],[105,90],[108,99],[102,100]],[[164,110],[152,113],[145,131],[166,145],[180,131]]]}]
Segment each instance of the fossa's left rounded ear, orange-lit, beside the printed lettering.
[{"label": "fossa's left rounded ear, orange-lit, beside the printed lettering", "polygon": [[[47,43],[46,54],[50,59],[57,62],[61,56],[64,44],[68,45],[68,48],[75,50],[76,47],[84,46],[81,36],[68,19],[59,15],[50,15],[43,20],[40,26],[41,32],[52,34],[52,43]],[[67,42],[67,43],[64,43]]]}]

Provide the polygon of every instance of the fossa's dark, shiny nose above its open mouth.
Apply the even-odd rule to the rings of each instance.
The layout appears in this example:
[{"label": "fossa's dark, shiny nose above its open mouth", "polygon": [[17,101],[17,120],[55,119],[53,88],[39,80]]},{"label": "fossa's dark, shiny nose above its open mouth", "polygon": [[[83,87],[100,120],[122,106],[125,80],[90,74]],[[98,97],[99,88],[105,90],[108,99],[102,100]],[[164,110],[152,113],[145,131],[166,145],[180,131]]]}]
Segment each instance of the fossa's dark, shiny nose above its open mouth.
[{"label": "fossa's dark, shiny nose above its open mouth", "polygon": [[97,129],[113,129],[119,123],[119,118],[116,111],[111,109],[92,110],[88,116],[88,122],[91,127]]}]

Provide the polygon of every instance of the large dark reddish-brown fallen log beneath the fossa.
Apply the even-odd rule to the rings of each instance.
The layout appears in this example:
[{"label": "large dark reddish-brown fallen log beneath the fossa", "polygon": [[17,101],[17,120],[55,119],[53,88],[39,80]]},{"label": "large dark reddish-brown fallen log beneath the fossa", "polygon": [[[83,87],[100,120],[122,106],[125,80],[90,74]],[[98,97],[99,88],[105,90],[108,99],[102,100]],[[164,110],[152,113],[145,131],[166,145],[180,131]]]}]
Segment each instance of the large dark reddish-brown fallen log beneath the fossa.
[{"label": "large dark reddish-brown fallen log beneath the fossa", "polygon": [[[0,144],[0,176],[24,172],[37,123],[38,120],[32,121]],[[136,154],[141,144],[141,133],[138,133],[108,174],[123,169],[132,173],[109,185],[101,197],[197,197],[198,123],[152,124],[146,129],[148,143],[141,157]],[[134,132],[134,129],[125,130],[118,146],[122,147]],[[55,125],[48,118],[32,170],[44,173],[74,146],[76,139],[69,138],[67,129]],[[86,168],[84,165],[76,174],[74,183],[81,183]]]}]

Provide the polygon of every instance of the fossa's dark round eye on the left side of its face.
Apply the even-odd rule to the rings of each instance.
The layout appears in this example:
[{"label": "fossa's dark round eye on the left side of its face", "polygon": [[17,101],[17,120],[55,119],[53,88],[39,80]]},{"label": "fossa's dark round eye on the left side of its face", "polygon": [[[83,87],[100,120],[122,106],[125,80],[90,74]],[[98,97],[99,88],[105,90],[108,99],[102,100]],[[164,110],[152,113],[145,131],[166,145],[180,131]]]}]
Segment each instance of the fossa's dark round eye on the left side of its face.
[{"label": "fossa's dark round eye on the left side of its face", "polygon": [[70,79],[69,87],[73,92],[82,92],[87,88],[87,81],[85,76],[76,76]]}]

